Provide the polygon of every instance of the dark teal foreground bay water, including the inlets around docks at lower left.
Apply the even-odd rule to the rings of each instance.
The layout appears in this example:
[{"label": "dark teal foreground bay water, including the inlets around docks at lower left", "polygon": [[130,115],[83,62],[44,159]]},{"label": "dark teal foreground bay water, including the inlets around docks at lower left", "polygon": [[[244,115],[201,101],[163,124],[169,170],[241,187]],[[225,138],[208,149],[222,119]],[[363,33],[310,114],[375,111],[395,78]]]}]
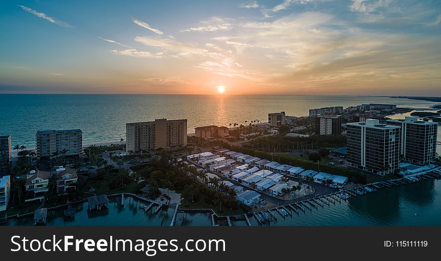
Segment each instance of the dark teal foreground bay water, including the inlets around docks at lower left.
[{"label": "dark teal foreground bay water, including the inlets around docks at lower left", "polygon": [[[77,205],[74,219],[65,219],[63,210],[49,211],[47,225],[127,225],[168,226],[174,207],[157,214],[152,210],[144,213],[138,201],[126,197],[124,206],[120,197],[111,199],[108,210],[88,211],[87,203]],[[282,217],[277,211],[277,222],[270,225],[441,225],[441,180],[383,188],[376,192],[358,196],[348,201],[332,203],[330,206],[306,209],[306,213]],[[415,216],[415,213],[417,215]],[[8,225],[32,225],[32,217],[8,220]],[[254,217],[253,225],[258,225]],[[226,225],[226,221],[220,221]],[[247,225],[245,221],[232,221],[233,225]],[[176,226],[210,226],[209,213],[177,213]]]}]

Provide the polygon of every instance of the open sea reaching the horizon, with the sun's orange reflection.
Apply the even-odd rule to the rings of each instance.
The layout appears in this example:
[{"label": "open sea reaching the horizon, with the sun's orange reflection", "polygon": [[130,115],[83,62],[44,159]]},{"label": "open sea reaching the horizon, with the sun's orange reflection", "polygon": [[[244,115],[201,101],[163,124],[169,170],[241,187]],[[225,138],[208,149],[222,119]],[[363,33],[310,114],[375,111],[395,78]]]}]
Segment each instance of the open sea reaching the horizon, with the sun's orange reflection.
[{"label": "open sea reaching the horizon, with the sun's orange reflection", "polygon": [[35,133],[47,129],[81,129],[83,142],[125,138],[128,122],[157,118],[188,119],[187,132],[204,125],[268,121],[268,113],[308,115],[324,106],[363,103],[428,108],[432,102],[365,96],[294,95],[35,95],[0,94],[0,135],[12,144],[36,147]]}]

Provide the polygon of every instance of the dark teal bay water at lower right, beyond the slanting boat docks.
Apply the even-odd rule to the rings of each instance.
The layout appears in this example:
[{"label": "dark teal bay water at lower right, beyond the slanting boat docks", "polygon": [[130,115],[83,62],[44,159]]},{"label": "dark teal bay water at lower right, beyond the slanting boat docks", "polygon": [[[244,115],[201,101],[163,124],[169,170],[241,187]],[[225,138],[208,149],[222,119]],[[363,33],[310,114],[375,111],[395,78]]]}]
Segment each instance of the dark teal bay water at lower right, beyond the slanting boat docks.
[{"label": "dark teal bay water at lower right, beyond the slanting boat docks", "polygon": [[[383,188],[341,204],[306,209],[306,213],[299,215],[293,212],[293,217],[274,213],[278,221],[271,225],[441,225],[441,181]],[[251,221],[258,225],[255,218]]]}]

